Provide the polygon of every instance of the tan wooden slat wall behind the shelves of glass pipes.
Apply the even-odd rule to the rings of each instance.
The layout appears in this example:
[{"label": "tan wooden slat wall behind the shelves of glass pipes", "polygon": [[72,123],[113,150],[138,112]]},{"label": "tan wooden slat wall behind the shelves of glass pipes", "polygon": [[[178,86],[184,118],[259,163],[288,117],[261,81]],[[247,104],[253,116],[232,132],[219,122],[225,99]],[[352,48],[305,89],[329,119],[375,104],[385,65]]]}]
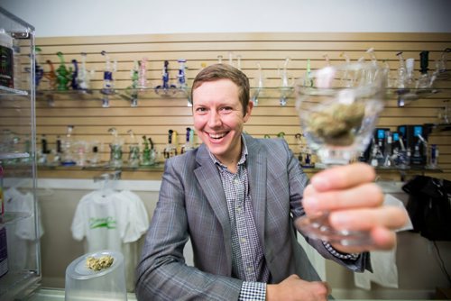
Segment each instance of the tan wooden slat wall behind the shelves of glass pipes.
[{"label": "tan wooden slat wall behind the shelves of glass pipes", "polygon": [[[55,68],[59,65],[57,51],[64,53],[67,67],[71,59],[80,61],[80,52],[87,52],[87,68],[96,70],[93,87],[102,87],[104,57],[100,51],[106,50],[111,59],[117,59],[117,72],[114,74],[115,87],[124,88],[131,85],[130,69],[133,60],[149,59],[147,64],[150,86],[161,84],[161,68],[163,61],[170,61],[170,78],[176,82],[177,59],[187,59],[189,84],[197,75],[202,64],[210,65],[217,62],[218,56],[223,62],[228,62],[229,51],[241,56],[241,66],[246,75],[254,82],[258,74],[257,62],[260,62],[266,87],[279,87],[281,78],[279,68],[283,67],[284,59],[289,57],[289,74],[299,78],[306,71],[307,59],[311,59],[311,68],[321,68],[326,65],[324,55],[331,64],[337,64],[344,59],[345,53],[352,60],[364,57],[372,48],[379,60],[386,60],[391,68],[391,78],[396,76],[398,58],[396,53],[403,51],[405,59],[414,58],[415,72],[419,75],[419,51],[429,51],[429,68],[434,68],[446,47],[451,47],[450,33],[218,33],[218,34],[167,34],[167,35],[128,35],[102,37],[61,37],[39,38],[36,45],[41,47],[40,63],[46,71],[44,63],[51,59]],[[449,58],[451,59],[451,58]],[[451,62],[448,62],[451,68]],[[42,87],[45,87],[45,82]],[[380,119],[380,127],[389,127],[392,131],[400,124],[437,123],[437,114],[444,101],[451,97],[450,79],[439,81],[436,87],[440,93],[422,98],[398,107],[396,98],[386,102],[385,110]],[[279,105],[277,91],[262,98],[254,108],[253,117],[246,123],[245,131],[256,137],[269,134],[274,137],[278,132],[285,132],[293,150],[297,150],[294,135],[300,132],[299,119],[294,110],[294,99],[290,97],[287,106]],[[450,104],[451,105],[451,104]],[[5,109],[1,113],[2,124],[7,124],[9,118],[15,118],[14,109]],[[121,136],[129,141],[126,132],[130,129],[141,137],[148,135],[155,141],[159,150],[164,148],[167,132],[173,129],[179,133],[179,145],[185,139],[185,129],[191,126],[191,108],[187,100],[176,97],[148,97],[140,99],[138,107],[130,107],[124,99],[114,99],[109,108],[102,108],[100,101],[70,99],[55,96],[54,106],[49,106],[46,100],[38,97],[37,101],[37,132],[38,137],[46,134],[51,149],[55,148],[57,135],[64,136],[66,126],[75,125],[74,137],[79,140],[111,141],[108,128],[115,126]],[[429,137],[430,143],[437,143],[440,151],[439,166],[445,173],[441,178],[451,179],[451,132],[434,133]],[[104,160],[108,158],[107,147],[104,149]],[[126,154],[124,154],[124,158]],[[51,171],[41,173],[51,177]],[[146,178],[146,173],[142,174]],[[436,175],[437,176],[437,175]],[[79,176],[78,177],[83,177]],[[87,178],[90,175],[87,174]]]}]

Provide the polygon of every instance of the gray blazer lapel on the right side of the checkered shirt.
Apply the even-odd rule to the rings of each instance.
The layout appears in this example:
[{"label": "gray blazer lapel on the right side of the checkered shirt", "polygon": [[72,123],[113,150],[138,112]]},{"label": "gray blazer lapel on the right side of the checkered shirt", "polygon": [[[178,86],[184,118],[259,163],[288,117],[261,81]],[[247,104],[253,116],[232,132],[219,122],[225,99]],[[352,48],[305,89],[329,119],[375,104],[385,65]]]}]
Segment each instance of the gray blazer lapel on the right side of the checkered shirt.
[{"label": "gray blazer lapel on the right side of the checkered shirt", "polygon": [[260,143],[251,136],[244,135],[247,146],[247,172],[249,175],[249,187],[253,202],[253,218],[257,233],[264,246],[264,227],[266,216],[266,172],[267,161],[265,150]]}]

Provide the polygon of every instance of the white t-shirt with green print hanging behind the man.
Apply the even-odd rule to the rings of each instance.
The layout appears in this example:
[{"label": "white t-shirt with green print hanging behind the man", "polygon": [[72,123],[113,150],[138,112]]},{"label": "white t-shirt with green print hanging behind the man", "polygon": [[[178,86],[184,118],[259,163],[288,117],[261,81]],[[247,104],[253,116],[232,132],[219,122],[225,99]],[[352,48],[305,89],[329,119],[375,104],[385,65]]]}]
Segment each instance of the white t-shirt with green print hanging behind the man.
[{"label": "white t-shirt with green print hanging behind the man", "polygon": [[86,237],[87,253],[102,250],[120,251],[124,255],[127,290],[134,287],[137,264],[136,242],[146,233],[149,216],[139,196],[131,191],[93,191],[83,196],[72,221],[75,240]]}]

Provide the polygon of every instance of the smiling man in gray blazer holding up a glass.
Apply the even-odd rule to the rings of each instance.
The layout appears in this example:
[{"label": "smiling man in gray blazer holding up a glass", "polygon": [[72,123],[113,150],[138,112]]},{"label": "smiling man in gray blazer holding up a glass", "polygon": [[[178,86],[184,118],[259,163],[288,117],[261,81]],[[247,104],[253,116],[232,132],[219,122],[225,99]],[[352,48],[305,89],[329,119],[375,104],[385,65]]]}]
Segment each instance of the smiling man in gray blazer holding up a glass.
[{"label": "smiling man in gray blazer holding up a glass", "polygon": [[[244,134],[253,103],[242,71],[223,64],[204,68],[191,96],[203,143],[166,160],[137,268],[139,300],[326,300],[329,288],[294,226],[300,216],[318,211],[331,212],[332,226],[371,233],[373,244],[366,247],[306,237],[348,269],[371,269],[365,251],[394,246],[391,229],[405,223],[405,212],[382,207],[369,166],[327,169],[308,185],[284,140]],[[183,258],[189,239],[194,267]]]}]

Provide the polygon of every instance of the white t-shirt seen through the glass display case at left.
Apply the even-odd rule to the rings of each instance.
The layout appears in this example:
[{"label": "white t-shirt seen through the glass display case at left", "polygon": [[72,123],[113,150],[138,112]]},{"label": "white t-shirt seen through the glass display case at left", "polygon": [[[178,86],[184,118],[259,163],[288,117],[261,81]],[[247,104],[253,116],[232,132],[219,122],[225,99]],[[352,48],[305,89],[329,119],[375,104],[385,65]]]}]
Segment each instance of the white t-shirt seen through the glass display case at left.
[{"label": "white t-shirt seen through the glass display case at left", "polygon": [[[39,237],[44,229],[41,223],[41,213],[38,205]],[[25,218],[17,223],[8,225],[8,269],[20,271],[23,269],[37,269],[36,260],[36,229],[34,223],[34,204],[32,194],[22,193],[14,187],[5,191],[5,212],[25,214]],[[11,227],[11,228],[10,228]]]}]

